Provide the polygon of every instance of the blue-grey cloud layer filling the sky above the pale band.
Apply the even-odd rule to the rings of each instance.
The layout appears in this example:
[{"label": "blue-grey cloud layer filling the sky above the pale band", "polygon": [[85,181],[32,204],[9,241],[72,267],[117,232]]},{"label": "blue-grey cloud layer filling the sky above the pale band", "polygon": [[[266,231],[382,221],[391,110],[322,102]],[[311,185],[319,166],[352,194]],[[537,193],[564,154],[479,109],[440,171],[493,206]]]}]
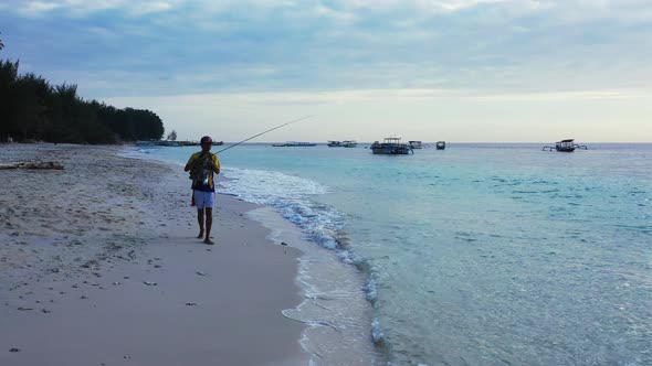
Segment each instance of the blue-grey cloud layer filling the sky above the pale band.
[{"label": "blue-grey cloud layer filling the sky above the pale band", "polygon": [[[17,1],[4,52],[93,97],[324,89],[644,88],[652,3]],[[19,15],[19,17],[14,17]],[[22,17],[22,18],[21,18]]]}]

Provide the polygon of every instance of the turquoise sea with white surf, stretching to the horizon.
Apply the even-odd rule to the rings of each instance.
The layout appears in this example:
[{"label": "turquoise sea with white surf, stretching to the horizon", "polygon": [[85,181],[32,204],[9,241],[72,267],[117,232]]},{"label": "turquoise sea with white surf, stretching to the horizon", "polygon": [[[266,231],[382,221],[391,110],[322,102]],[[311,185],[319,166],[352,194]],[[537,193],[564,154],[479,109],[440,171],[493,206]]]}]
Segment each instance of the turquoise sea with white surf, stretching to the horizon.
[{"label": "turquoise sea with white surf, stretching to the horizon", "polygon": [[359,268],[392,365],[652,364],[652,144],[364,146],[236,147],[221,190]]}]

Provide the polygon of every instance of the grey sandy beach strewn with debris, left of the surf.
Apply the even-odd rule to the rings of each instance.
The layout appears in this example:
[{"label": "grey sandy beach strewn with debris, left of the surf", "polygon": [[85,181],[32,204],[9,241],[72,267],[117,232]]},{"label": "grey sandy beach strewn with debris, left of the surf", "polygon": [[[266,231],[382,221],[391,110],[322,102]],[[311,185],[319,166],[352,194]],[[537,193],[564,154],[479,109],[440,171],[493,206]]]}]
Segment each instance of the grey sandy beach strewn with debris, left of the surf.
[{"label": "grey sandy beach strewn with debris, left of the surf", "polygon": [[116,147],[0,146],[0,365],[306,365],[299,251],[218,195],[196,239],[187,174]]}]

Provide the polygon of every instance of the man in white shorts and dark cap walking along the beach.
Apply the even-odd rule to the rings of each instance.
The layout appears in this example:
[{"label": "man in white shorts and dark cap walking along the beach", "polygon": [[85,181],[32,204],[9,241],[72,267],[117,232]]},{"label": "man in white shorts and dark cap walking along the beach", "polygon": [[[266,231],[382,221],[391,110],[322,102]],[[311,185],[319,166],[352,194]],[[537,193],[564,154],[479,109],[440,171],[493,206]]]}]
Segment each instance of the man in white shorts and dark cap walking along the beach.
[{"label": "man in white shorts and dark cap walking along the beach", "polygon": [[218,155],[210,152],[212,146],[213,140],[210,137],[202,137],[201,151],[193,153],[188,160],[186,168],[183,168],[183,171],[190,171],[190,179],[192,180],[192,203],[197,205],[197,220],[199,222],[199,235],[197,238],[201,239],[204,237],[203,243],[206,244],[214,244],[211,240],[213,206],[215,202],[213,173],[220,174]]}]

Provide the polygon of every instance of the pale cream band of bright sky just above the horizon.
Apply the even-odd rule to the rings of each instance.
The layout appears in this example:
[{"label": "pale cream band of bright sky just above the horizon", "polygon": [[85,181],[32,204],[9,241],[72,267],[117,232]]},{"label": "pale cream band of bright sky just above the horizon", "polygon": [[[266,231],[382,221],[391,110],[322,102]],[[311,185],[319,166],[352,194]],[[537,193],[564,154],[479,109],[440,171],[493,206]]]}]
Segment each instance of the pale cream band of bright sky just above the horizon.
[{"label": "pale cream band of bright sky just above the horizon", "polygon": [[[425,141],[651,141],[640,114],[652,114],[652,96],[632,90],[484,95],[437,89],[225,93],[112,98],[117,106],[147,106],[180,138],[211,133],[238,141],[281,122],[315,115],[266,136],[265,141],[325,141],[347,137],[374,141],[390,134]],[[637,108],[637,106],[639,106]],[[617,126],[617,127],[614,127]],[[637,130],[635,133],[628,128]]]}]

